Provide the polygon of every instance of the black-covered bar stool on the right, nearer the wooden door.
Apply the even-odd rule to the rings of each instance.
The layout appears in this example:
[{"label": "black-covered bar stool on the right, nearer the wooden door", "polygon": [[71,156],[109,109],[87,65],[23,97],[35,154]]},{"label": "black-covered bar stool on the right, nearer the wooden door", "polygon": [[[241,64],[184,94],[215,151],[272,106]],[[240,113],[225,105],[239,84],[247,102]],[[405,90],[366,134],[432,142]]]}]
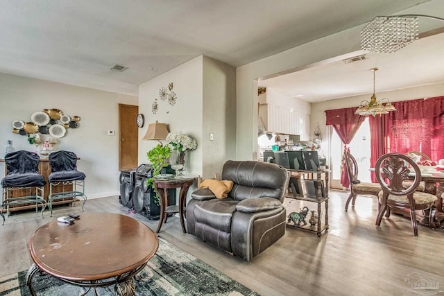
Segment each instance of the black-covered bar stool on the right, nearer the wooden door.
[{"label": "black-covered bar stool on the right, nearer the wooden door", "polygon": [[[48,206],[53,216],[53,202],[71,198],[76,202],[78,197],[83,198],[82,211],[87,197],[85,195],[85,173],[77,171],[77,155],[71,151],[61,150],[51,153],[48,157],[51,173],[49,180]],[[56,186],[72,185],[72,191],[56,192]]]}]

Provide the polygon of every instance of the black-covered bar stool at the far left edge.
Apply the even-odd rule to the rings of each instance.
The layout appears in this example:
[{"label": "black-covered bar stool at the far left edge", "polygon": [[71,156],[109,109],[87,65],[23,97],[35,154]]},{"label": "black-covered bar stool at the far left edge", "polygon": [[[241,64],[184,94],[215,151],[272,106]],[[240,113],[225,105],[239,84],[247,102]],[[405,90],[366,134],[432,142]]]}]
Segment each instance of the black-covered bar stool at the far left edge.
[{"label": "black-covered bar stool at the far left edge", "polygon": [[44,200],[44,185],[46,181],[39,173],[40,157],[30,151],[19,150],[8,153],[5,156],[6,177],[1,180],[3,187],[3,201],[0,206],[0,215],[5,224],[3,209],[6,207],[7,216],[10,215],[10,207],[14,205],[35,204],[35,212],[38,206],[43,211],[46,207]]}]

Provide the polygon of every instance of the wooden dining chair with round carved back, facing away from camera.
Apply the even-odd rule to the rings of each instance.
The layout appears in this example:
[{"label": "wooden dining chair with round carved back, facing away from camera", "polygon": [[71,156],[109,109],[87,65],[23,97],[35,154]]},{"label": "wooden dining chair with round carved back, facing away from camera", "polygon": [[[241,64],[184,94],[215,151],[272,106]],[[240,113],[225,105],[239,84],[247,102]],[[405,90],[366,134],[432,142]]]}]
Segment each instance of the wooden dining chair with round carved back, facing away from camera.
[{"label": "wooden dining chair with round carved back, facing away from camera", "polygon": [[[388,153],[377,159],[375,173],[377,181],[382,187],[382,191],[378,194],[379,209],[376,225],[381,225],[382,216],[386,211],[388,211],[386,217],[389,217],[391,207],[407,209],[410,211],[413,234],[418,236],[415,211],[430,209],[437,199],[436,195],[416,191],[421,181],[419,166],[406,155]],[[406,186],[404,181],[408,180],[412,173],[414,174],[413,182]],[[432,225],[432,210],[429,211],[428,218],[429,225]]]}]

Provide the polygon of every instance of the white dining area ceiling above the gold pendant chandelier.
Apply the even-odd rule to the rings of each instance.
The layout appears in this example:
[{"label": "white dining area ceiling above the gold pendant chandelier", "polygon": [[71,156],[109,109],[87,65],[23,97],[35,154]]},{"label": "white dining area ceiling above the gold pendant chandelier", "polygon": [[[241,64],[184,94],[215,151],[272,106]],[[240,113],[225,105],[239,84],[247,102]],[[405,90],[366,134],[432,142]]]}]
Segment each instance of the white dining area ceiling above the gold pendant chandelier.
[{"label": "white dining area ceiling above the gold pendant chandelier", "polygon": [[[258,85],[308,102],[347,98],[444,82],[444,33],[416,40],[395,53],[366,53],[365,60],[343,60],[307,67]],[[443,89],[444,91],[444,89]],[[382,99],[378,97],[378,100]],[[370,95],[368,96],[370,100]]]}]

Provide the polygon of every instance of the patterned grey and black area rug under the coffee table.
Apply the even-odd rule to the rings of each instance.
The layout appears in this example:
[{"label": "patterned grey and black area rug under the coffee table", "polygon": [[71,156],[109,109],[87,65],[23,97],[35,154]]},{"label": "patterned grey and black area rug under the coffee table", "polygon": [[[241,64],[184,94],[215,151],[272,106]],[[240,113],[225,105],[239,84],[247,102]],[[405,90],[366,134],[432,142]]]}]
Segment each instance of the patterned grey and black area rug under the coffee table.
[{"label": "patterned grey and black area rug under the coffee table", "polygon": [[[187,252],[159,238],[159,250],[135,279],[136,295],[259,295],[223,275]],[[33,277],[37,295],[82,295],[84,288],[65,284],[49,275]],[[114,286],[98,288],[98,295],[115,295]],[[26,270],[0,279],[1,296],[31,295],[26,286]],[[90,290],[86,295],[94,295]]]}]

